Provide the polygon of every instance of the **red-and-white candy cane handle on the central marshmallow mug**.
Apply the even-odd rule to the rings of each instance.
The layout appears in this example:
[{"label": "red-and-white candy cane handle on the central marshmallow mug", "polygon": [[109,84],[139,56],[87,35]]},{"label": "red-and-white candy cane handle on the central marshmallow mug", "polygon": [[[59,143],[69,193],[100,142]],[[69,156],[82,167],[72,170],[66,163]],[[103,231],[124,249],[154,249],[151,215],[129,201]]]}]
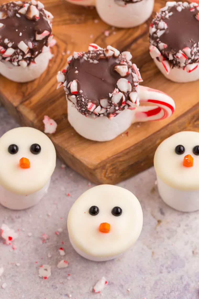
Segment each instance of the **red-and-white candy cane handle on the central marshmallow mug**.
[{"label": "red-and-white candy cane handle on the central marshmallow mug", "polygon": [[174,100],[162,91],[146,86],[138,86],[140,103],[152,103],[154,106],[139,106],[135,112],[135,122],[161,120],[175,111]]}]

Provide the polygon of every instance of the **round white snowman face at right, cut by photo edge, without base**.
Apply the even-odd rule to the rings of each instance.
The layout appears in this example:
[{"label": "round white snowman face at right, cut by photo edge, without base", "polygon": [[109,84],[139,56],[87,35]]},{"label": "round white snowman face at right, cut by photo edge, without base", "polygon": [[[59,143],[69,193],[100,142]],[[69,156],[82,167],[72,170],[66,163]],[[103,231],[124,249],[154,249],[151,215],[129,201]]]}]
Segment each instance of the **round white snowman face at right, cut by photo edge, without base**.
[{"label": "round white snowman face at right, cut by photo edge, without base", "polygon": [[179,132],[164,140],[155,152],[154,166],[170,187],[199,189],[199,133]]}]

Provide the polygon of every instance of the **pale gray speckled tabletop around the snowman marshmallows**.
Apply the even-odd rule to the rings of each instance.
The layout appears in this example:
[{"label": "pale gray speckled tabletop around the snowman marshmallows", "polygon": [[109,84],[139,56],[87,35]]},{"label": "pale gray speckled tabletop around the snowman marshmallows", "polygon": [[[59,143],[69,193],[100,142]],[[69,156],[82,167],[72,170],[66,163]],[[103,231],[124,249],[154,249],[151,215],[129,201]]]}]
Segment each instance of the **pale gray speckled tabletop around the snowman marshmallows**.
[{"label": "pale gray speckled tabletop around the snowman marshmallows", "polygon": [[[0,106],[0,136],[16,126]],[[15,250],[0,241],[0,267],[4,267],[0,286],[7,283],[6,289],[0,288],[0,299],[64,299],[69,294],[73,299],[199,298],[199,213],[181,213],[166,206],[158,196],[155,179],[151,168],[119,184],[138,197],[144,213],[143,230],[136,244],[119,259],[95,263],[76,254],[67,234],[70,206],[89,188],[89,182],[68,167],[61,169],[57,160],[49,193],[38,205],[23,211],[0,206],[0,224],[20,230]],[[58,228],[63,229],[59,236],[55,234]],[[49,235],[44,243],[43,233]],[[65,269],[56,267],[62,259],[59,247],[66,252],[69,266]],[[42,264],[51,266],[47,280],[38,277]],[[101,294],[95,294],[92,286],[102,276],[108,284]]]}]

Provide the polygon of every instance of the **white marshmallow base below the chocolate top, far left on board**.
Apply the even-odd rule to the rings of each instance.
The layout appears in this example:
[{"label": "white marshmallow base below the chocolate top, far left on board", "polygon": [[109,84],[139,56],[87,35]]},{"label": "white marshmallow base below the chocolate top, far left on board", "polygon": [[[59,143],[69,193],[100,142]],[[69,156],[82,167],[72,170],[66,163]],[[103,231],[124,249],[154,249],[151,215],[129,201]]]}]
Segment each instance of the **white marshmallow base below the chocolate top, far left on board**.
[{"label": "white marshmallow base below the chocolate top, far left on board", "polygon": [[35,58],[35,63],[30,63],[27,67],[14,66],[9,61],[0,61],[0,74],[14,82],[24,83],[37,79],[46,70],[52,54],[49,51],[39,54]]}]

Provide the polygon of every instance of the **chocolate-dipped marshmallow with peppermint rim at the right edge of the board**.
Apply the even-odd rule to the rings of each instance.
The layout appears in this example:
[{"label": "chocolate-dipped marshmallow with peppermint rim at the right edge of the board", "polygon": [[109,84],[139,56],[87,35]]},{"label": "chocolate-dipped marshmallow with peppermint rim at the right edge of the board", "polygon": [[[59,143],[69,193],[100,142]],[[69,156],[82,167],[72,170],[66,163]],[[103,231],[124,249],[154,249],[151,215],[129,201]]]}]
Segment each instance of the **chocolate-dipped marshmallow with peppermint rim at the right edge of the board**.
[{"label": "chocolate-dipped marshmallow with peppermint rim at the right edge of the board", "polygon": [[149,52],[163,75],[174,82],[199,79],[198,4],[166,2],[149,28]]}]

